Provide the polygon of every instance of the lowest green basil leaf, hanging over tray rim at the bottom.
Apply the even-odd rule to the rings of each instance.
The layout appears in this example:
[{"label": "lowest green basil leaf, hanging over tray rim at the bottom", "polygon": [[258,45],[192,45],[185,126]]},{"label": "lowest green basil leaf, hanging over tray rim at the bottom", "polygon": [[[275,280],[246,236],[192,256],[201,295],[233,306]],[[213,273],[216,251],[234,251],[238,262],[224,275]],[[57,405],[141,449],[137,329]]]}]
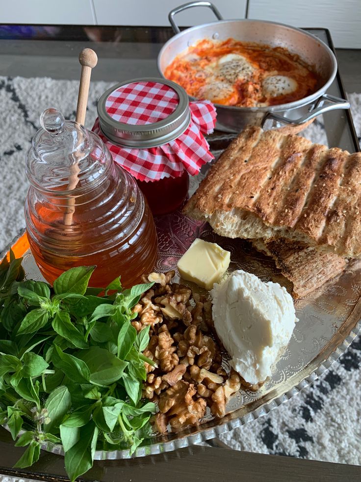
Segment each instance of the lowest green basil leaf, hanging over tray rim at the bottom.
[{"label": "lowest green basil leaf, hanging over tray rim at the bottom", "polygon": [[95,429],[96,426],[92,421],[81,427],[79,440],[65,453],[65,469],[72,482],[74,482],[79,475],[91,469],[93,465],[91,444]]}]

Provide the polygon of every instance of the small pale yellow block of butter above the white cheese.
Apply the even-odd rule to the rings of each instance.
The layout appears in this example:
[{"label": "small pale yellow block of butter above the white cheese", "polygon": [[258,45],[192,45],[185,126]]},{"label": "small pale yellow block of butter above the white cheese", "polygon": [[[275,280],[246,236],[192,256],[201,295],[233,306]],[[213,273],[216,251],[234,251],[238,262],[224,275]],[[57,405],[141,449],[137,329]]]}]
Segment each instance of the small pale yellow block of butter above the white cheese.
[{"label": "small pale yellow block of butter above the white cheese", "polygon": [[230,265],[231,253],[216,243],[195,239],[178,261],[180,276],[207,290],[218,283]]}]

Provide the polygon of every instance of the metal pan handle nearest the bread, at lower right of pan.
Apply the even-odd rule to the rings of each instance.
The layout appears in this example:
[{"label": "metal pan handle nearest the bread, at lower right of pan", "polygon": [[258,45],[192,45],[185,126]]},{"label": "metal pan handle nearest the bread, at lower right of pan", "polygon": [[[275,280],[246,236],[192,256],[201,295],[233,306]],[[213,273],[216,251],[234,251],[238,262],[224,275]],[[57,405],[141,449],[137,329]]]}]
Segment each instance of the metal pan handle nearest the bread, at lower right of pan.
[{"label": "metal pan handle nearest the bread, at lower right of pan", "polygon": [[323,94],[317,99],[315,104],[309,108],[309,113],[300,117],[299,119],[289,119],[283,115],[268,113],[265,115],[262,121],[262,129],[269,130],[276,128],[275,122],[281,122],[282,124],[301,125],[309,120],[317,117],[317,115],[324,114],[325,112],[334,111],[335,109],[350,109],[350,103],[345,99],[340,99],[334,95]]}]

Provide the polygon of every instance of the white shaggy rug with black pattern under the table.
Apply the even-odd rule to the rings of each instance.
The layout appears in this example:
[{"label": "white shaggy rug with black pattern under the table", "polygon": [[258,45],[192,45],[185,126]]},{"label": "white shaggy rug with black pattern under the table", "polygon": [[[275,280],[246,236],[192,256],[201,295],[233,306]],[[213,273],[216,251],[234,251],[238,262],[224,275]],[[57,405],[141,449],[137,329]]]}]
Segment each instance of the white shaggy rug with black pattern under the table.
[{"label": "white shaggy rug with black pattern under the table", "polygon": [[[86,126],[97,116],[96,104],[114,83],[91,85]],[[0,211],[0,252],[25,227],[27,192],[26,151],[39,128],[39,116],[48,107],[75,118],[76,81],[48,78],[0,77],[0,172],[3,178]],[[352,113],[361,137],[361,94],[350,94]],[[322,120],[303,135],[325,143]],[[359,138],[360,139],[360,138]],[[233,449],[264,454],[290,455],[361,465],[361,339],[317,382],[287,403],[251,424],[221,436]]]}]

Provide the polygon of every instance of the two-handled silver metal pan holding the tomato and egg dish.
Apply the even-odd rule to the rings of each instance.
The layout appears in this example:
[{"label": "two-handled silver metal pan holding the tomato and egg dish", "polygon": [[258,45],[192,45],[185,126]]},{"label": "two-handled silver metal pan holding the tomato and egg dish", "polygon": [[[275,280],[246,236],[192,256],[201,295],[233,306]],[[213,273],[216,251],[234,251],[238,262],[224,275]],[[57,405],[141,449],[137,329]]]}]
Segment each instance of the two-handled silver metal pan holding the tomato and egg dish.
[{"label": "two-handled silver metal pan holding the tomato and egg dish", "polygon": [[[174,16],[194,6],[209,7],[217,21],[180,31]],[[169,13],[169,21],[176,35],[164,44],[158,55],[158,69],[164,77],[166,67],[196,42],[202,39],[256,42],[272,47],[284,47],[299,55],[321,79],[319,88],[303,99],[270,107],[229,107],[215,104],[216,128],[225,132],[239,132],[246,125],[259,125],[264,129],[280,127],[282,124],[301,126],[317,115],[334,109],[349,109],[350,103],[326,94],[337,72],[336,58],[321,40],[313,35],[284,24],[261,20],[223,20],[217,8],[209,1],[193,1],[180,5]]]}]

